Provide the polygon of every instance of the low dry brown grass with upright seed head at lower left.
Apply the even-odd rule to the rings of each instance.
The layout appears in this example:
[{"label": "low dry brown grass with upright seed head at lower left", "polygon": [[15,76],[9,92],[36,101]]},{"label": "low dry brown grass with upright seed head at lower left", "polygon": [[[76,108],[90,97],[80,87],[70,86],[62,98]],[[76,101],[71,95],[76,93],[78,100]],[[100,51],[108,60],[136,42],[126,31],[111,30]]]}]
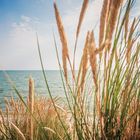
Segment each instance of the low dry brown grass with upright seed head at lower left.
[{"label": "low dry brown grass with upright seed head at lower left", "polygon": [[[43,139],[44,129],[48,139],[62,139],[65,134],[53,103],[45,97],[35,97],[34,99],[32,78],[29,79],[29,97],[27,100],[28,109],[21,100],[13,99],[13,97],[5,99],[6,109],[0,111],[0,138]],[[53,100],[63,122],[66,121],[68,114],[65,108],[59,105],[59,98]]]}]

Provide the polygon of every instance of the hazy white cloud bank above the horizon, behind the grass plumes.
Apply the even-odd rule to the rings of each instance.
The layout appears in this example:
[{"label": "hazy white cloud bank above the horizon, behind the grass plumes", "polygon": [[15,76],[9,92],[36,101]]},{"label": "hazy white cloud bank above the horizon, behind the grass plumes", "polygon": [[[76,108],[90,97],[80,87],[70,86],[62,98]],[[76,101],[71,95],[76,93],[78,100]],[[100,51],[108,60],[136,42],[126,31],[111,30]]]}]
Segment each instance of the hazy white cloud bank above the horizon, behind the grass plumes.
[{"label": "hazy white cloud bank above the horizon, behind the grass plumes", "polygon": [[[82,54],[86,32],[93,29],[96,22],[99,20],[101,2],[102,0],[92,1],[89,4],[77,46],[77,64]],[[62,15],[63,23],[68,35],[69,51],[71,56],[73,54],[75,31],[80,8],[81,5],[73,7],[73,9],[67,10],[65,14]],[[52,26],[54,27],[54,25],[54,32],[61,55],[60,39],[58,32],[56,32],[57,27],[55,21],[52,24],[43,23],[37,18],[22,15],[20,22],[12,23],[9,36],[5,40],[4,44],[2,44],[4,47],[3,54],[0,55],[0,64],[3,63],[6,69],[39,69],[40,62],[35,37],[35,32],[37,30],[45,67],[47,69],[57,69],[58,64],[52,38]],[[2,62],[3,60],[4,62]]]}]

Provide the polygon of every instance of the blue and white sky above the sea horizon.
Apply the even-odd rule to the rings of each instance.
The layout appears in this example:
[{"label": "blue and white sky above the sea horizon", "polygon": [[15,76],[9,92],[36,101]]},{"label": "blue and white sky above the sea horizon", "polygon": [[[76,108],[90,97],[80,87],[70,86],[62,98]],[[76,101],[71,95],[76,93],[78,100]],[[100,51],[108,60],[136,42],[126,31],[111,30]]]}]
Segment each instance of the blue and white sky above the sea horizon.
[{"label": "blue and white sky above the sea horizon", "polygon": [[[56,2],[66,31],[69,53],[72,56],[82,0],[56,0]],[[90,0],[77,46],[77,66],[84,47],[86,32],[94,29],[95,38],[98,38],[102,2],[103,0]],[[140,0],[135,2],[131,19],[138,15],[140,15]],[[41,69],[36,32],[45,69],[58,69],[53,32],[60,59],[61,43],[55,21],[53,0],[0,0],[0,69]]]}]

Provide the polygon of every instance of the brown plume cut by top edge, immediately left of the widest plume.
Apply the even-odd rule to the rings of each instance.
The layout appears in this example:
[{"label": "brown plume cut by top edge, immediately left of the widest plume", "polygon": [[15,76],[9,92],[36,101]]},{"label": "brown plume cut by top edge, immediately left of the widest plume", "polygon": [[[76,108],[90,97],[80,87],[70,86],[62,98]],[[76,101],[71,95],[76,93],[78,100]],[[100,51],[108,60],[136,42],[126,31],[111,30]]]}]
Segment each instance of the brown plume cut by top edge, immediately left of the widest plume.
[{"label": "brown plume cut by top edge, immediately left of the widest plume", "polygon": [[105,39],[105,30],[106,30],[107,17],[109,11],[109,4],[110,4],[110,0],[104,0],[101,16],[100,16],[99,48],[102,46],[103,41]]}]

